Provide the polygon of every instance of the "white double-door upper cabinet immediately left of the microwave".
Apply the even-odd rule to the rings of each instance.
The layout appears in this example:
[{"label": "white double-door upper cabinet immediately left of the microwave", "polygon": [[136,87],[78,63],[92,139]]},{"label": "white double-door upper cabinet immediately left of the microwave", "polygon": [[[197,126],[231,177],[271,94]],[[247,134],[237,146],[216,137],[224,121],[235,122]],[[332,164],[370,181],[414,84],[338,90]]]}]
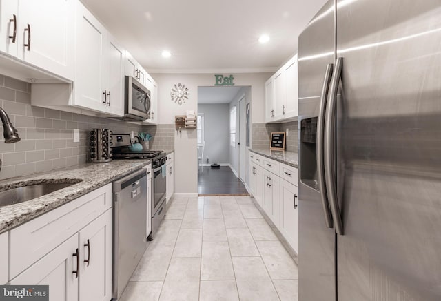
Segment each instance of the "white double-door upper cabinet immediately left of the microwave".
[{"label": "white double-door upper cabinet immediately left of the microwave", "polygon": [[76,6],[75,44],[72,104],[123,116],[124,50],[80,2]]}]

